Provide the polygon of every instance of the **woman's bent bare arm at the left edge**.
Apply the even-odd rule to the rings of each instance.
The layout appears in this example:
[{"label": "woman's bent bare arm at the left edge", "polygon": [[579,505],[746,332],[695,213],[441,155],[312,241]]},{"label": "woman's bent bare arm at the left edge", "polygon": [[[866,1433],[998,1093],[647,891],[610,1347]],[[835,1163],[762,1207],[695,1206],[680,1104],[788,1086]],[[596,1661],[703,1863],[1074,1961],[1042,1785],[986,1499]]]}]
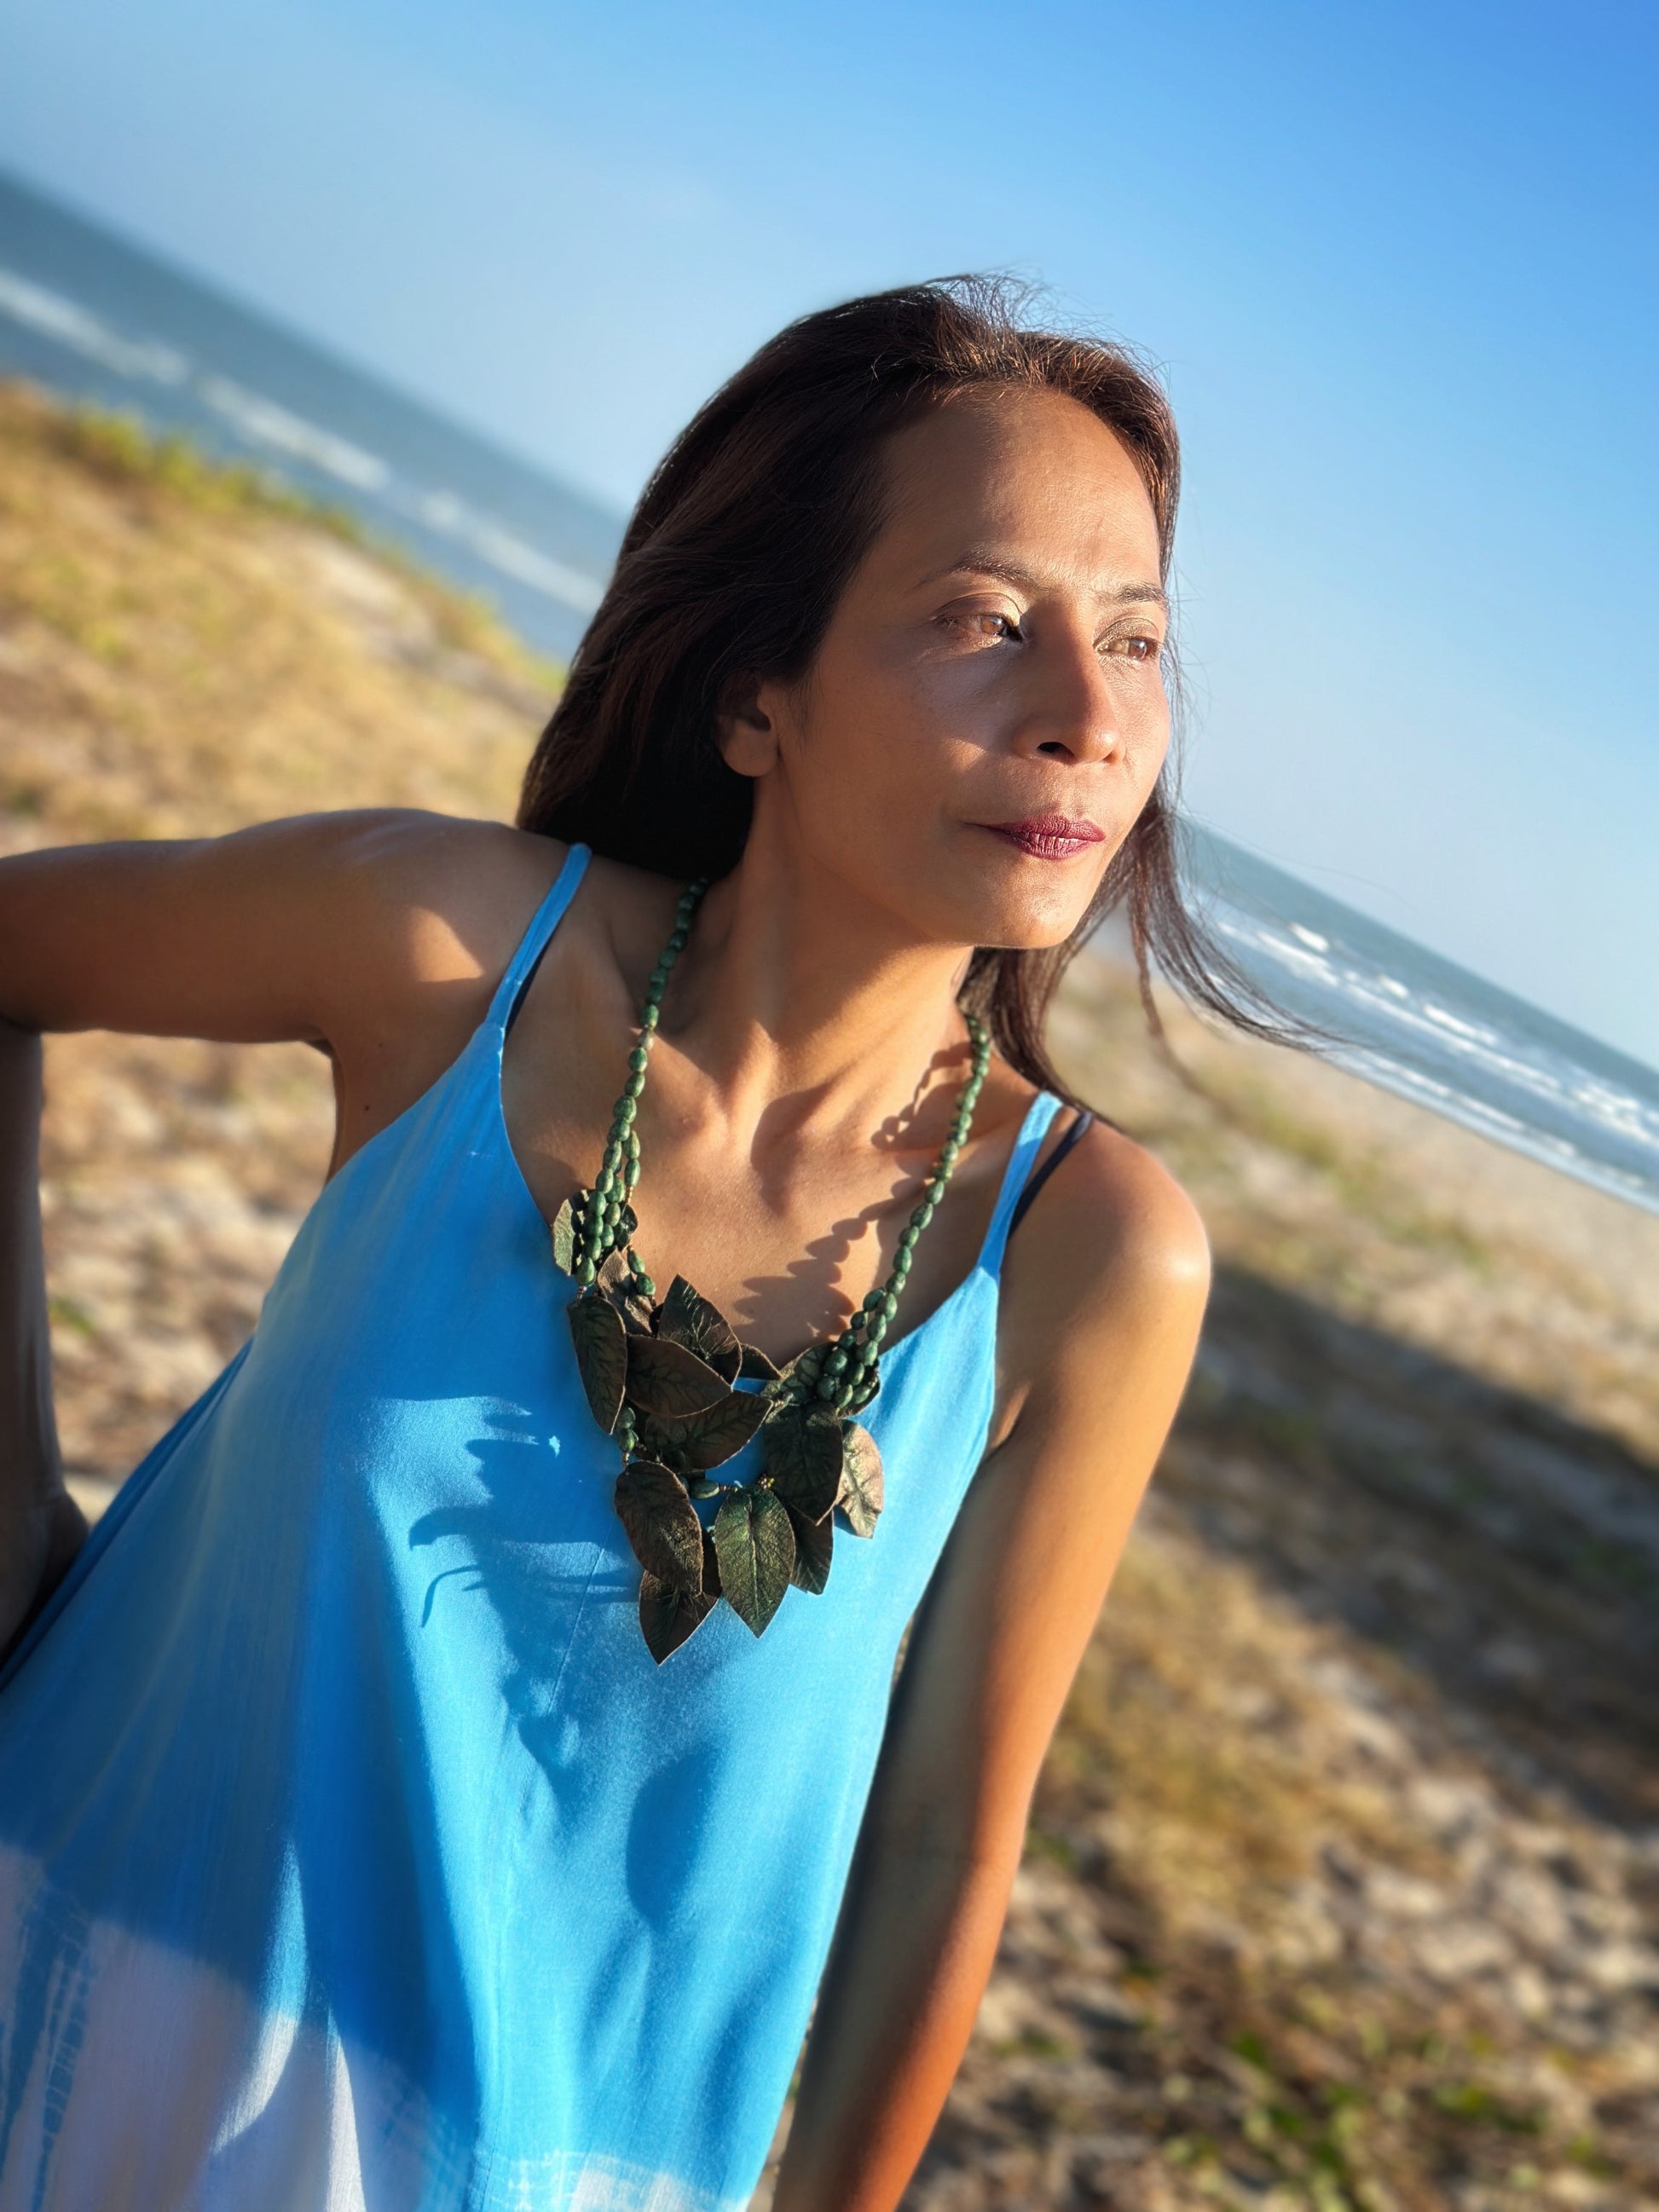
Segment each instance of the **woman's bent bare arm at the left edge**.
[{"label": "woman's bent bare arm at the left edge", "polygon": [[86,1535],[51,1402],[40,1031],[321,1044],[363,1141],[460,1048],[546,869],[542,838],[414,812],[0,860],[0,1657]]}]

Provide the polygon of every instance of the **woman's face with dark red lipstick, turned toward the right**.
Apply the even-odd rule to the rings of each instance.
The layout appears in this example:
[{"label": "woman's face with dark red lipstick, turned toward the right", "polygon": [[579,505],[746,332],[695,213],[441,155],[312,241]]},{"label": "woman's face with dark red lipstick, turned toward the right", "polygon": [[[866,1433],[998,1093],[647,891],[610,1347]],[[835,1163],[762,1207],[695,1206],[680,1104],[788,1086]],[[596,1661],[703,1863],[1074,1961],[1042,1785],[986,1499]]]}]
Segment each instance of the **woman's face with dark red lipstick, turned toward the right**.
[{"label": "woman's face with dark red lipstick, turned toward the right", "polygon": [[1053,392],[973,392],[898,431],[887,520],[801,684],[726,723],[752,847],[905,936],[1071,936],[1170,737],[1152,504]]}]

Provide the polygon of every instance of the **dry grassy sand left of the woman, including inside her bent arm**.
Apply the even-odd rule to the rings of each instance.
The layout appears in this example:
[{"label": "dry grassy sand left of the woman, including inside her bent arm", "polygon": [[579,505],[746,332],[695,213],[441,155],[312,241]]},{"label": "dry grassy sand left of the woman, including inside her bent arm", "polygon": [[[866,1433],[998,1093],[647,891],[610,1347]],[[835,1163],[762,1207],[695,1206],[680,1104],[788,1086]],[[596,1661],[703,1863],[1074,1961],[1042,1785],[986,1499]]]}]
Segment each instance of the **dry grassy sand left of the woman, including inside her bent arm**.
[{"label": "dry grassy sand left of the woman, including inside her bent arm", "polygon": [[[555,688],[338,515],[0,387],[0,852],[511,816]],[[248,1336],[334,1108],[303,1046],[53,1037],[49,1088],[60,1418],[97,1495]]]}]

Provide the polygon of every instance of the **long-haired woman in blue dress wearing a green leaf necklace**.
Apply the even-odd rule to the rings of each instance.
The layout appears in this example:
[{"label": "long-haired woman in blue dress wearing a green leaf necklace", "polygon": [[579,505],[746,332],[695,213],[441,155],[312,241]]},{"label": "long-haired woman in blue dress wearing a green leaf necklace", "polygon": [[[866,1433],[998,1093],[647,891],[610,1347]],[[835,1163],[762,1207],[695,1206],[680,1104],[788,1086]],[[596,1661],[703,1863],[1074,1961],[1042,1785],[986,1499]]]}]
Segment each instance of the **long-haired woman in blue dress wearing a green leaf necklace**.
[{"label": "long-haired woman in blue dress wearing a green leaf necklace", "polygon": [[[1250,1024],[1175,498],[1121,349],[854,301],[655,473],[515,827],[0,865],[7,2212],[737,2208],[814,1993],[779,2212],[898,2201],[1206,1298],[1042,1044],[1119,902]],[[88,1026],[305,1037],[338,1135],[82,1544],[31,1086]]]}]

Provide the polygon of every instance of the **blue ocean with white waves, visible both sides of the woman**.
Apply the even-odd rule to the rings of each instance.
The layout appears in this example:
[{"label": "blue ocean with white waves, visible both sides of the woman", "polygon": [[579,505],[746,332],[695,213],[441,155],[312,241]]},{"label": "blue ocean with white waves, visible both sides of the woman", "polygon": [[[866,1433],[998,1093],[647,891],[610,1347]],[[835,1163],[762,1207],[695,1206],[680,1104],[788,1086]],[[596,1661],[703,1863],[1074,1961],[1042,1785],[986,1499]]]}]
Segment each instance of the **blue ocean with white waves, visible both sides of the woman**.
[{"label": "blue ocean with white waves, visible both sides of the woman", "polygon": [[[564,659],[622,518],[0,177],[0,376],[186,431],[356,515]],[[1232,958],[1387,1091],[1659,1212],[1659,1073],[1192,830]]]}]

